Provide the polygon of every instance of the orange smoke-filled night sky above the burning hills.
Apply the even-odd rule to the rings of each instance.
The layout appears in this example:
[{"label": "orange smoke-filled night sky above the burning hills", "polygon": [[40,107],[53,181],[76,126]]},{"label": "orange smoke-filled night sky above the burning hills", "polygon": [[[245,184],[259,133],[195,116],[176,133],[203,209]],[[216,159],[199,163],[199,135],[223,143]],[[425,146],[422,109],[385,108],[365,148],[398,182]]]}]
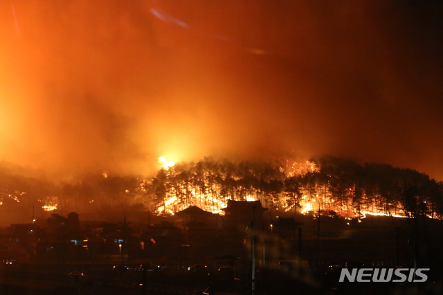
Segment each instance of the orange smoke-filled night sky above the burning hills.
[{"label": "orange smoke-filled night sky above the burning hills", "polygon": [[443,180],[440,1],[0,3],[0,157],[333,154]]}]

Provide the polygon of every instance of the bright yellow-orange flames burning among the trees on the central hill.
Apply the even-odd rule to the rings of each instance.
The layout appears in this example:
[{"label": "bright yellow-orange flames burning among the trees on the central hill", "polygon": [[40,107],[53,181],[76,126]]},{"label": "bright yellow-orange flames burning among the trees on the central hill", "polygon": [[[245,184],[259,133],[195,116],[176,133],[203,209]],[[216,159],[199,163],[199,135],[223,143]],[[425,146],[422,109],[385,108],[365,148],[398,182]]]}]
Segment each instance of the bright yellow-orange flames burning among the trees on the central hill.
[{"label": "bright yellow-orange flames burning among the trees on the central hill", "polygon": [[[165,157],[160,157],[159,162],[162,163],[163,169],[170,170],[174,166],[173,161],[168,161]],[[177,177],[180,175],[178,166],[174,170],[168,172],[168,176]],[[176,171],[177,170],[177,171]],[[311,161],[287,162],[280,167],[284,177],[305,176],[309,173],[316,173],[320,168],[316,163]],[[177,173],[177,175],[175,175]],[[194,172],[195,173],[195,172]],[[262,190],[257,188],[245,187],[238,185],[234,191],[230,191],[226,195],[221,184],[214,181],[214,175],[210,170],[199,172],[198,178],[183,178],[178,182],[165,184],[161,190],[160,205],[156,206],[156,213],[174,215],[182,211],[188,206],[198,206],[204,211],[224,214],[223,208],[226,208],[229,199],[239,201],[257,201],[260,200],[263,206],[271,206],[275,211],[283,212],[282,214],[302,213],[304,215],[317,216],[327,215],[332,217],[342,217],[347,220],[361,220],[368,215],[390,216],[390,217],[407,217],[404,206],[400,202],[381,202],[383,196],[379,193],[363,192],[360,202],[354,200],[356,187],[350,187],[341,193],[333,193],[328,184],[316,184],[315,181],[301,184],[298,193],[285,194],[283,192],[277,195],[266,195]],[[196,174],[194,174],[195,176]],[[225,176],[226,177],[226,176]],[[236,175],[230,175],[230,181],[238,181]],[[174,178],[173,178],[174,179]],[[226,180],[226,179],[225,179]],[[142,191],[145,190],[146,183],[143,183]],[[248,195],[240,193],[247,191]],[[159,195],[157,196],[159,198]],[[428,215],[431,218],[440,218],[435,213]]]}]

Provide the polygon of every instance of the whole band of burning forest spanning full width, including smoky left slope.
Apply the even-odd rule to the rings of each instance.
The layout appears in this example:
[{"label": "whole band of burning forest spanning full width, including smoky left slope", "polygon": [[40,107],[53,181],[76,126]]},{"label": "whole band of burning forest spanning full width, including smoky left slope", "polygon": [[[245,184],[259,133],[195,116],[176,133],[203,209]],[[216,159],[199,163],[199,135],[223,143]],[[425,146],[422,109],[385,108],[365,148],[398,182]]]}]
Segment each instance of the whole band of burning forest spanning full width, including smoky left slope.
[{"label": "whole band of burning forest spanning full width, including smoky left slope", "polygon": [[[441,219],[443,183],[388,164],[319,157],[309,161],[205,158],[161,168],[154,177],[83,175],[54,183],[2,169],[0,210],[171,215],[188,206],[223,213],[228,199],[260,200],[276,216],[295,213],[362,218]],[[28,213],[31,214],[30,212]]]}]

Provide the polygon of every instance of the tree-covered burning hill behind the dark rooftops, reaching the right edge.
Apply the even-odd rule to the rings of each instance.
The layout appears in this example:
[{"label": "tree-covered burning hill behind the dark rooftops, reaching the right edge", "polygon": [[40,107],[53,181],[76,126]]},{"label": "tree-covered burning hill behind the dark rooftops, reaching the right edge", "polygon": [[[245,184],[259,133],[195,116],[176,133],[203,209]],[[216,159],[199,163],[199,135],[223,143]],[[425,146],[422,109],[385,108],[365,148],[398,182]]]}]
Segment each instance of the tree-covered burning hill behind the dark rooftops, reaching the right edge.
[{"label": "tree-covered burning hill behind the dark rooftops, reaching the right edge", "polygon": [[278,211],[276,215],[320,211],[360,219],[365,215],[437,218],[442,214],[442,184],[427,175],[332,157],[300,163],[214,159],[178,163],[159,170],[143,189],[159,214],[173,214],[188,206],[221,213],[228,199],[260,200]]}]

